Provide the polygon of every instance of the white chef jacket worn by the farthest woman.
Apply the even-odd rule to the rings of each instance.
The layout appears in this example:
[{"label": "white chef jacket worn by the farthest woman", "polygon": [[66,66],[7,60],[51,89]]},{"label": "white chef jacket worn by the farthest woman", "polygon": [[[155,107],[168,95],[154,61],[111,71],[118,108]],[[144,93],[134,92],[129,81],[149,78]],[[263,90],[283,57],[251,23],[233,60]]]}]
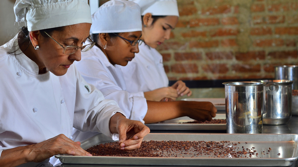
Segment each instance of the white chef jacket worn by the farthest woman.
[{"label": "white chef jacket worn by the farthest woman", "polygon": [[140,52],[126,66],[121,66],[125,83],[130,93],[143,93],[168,87],[169,80],[164,71],[162,56],[144,42]]}]

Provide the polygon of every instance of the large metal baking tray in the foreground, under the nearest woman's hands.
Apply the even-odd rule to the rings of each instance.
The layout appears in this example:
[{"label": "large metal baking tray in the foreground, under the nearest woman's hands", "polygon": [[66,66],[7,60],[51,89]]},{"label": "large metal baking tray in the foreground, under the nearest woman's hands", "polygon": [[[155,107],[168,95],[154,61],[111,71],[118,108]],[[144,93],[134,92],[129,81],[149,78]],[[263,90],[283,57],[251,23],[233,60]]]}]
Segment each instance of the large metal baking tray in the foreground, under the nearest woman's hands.
[{"label": "large metal baking tray in the foreground, under the nearest woman's hands", "polygon": [[[55,155],[64,164],[98,165],[158,165],[158,166],[241,166],[241,167],[288,167],[298,158],[298,134],[187,134],[149,133],[144,141],[229,141],[240,142],[239,151],[255,147],[258,157],[251,158],[146,158],[146,157],[87,157]],[[103,134],[95,135],[81,142],[83,149],[101,143],[113,142]],[[247,142],[247,144],[245,143]],[[272,148],[269,154],[260,154]],[[265,152],[266,153],[266,152]],[[280,156],[278,156],[280,153]]]}]

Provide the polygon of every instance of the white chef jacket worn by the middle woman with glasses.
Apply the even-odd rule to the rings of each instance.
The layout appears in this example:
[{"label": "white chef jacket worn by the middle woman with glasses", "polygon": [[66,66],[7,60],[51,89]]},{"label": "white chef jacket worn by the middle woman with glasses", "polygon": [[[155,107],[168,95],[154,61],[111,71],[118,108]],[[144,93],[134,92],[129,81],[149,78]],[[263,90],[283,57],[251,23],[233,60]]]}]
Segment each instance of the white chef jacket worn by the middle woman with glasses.
[{"label": "white chef jacket worn by the middle woman with glasses", "polygon": [[129,119],[144,123],[147,101],[140,95],[126,91],[120,65],[112,65],[104,53],[94,46],[90,51],[82,53],[76,66],[82,77],[99,89],[106,99],[116,101]]}]

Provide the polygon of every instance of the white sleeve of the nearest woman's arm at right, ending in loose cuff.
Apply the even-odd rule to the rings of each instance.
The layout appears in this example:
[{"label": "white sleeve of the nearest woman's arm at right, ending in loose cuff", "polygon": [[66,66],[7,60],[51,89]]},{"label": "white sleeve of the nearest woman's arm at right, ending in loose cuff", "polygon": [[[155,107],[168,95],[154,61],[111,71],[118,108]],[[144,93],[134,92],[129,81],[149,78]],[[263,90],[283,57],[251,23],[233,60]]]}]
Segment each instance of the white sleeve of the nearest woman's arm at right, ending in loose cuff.
[{"label": "white sleeve of the nearest woman's arm at right, ending in loose cuff", "polygon": [[110,132],[110,119],[116,112],[124,116],[125,113],[115,101],[105,99],[102,93],[88,84],[79,73],[77,76],[74,128],[80,131],[100,131],[112,139],[118,138],[118,134]]}]

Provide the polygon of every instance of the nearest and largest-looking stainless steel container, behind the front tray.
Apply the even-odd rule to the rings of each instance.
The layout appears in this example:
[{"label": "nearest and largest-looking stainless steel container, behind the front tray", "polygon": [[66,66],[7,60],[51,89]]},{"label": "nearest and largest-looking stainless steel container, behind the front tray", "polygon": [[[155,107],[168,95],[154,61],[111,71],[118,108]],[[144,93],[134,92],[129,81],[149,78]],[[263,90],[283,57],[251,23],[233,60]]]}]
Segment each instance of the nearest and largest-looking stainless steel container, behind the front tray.
[{"label": "nearest and largest-looking stainless steel container, behind the front tray", "polygon": [[262,133],[263,84],[224,82],[227,133]]}]

